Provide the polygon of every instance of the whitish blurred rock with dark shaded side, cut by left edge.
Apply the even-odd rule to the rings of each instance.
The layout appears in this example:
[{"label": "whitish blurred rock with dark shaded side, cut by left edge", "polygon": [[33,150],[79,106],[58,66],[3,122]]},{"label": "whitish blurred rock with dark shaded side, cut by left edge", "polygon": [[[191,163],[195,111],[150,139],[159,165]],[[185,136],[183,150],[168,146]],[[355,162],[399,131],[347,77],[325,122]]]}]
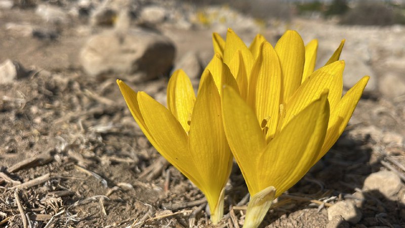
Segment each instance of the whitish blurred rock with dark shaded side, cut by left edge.
[{"label": "whitish blurred rock with dark shaded side, cut by left edge", "polygon": [[0,84],[12,83],[16,79],[27,75],[24,68],[17,62],[7,59],[0,64]]}]

